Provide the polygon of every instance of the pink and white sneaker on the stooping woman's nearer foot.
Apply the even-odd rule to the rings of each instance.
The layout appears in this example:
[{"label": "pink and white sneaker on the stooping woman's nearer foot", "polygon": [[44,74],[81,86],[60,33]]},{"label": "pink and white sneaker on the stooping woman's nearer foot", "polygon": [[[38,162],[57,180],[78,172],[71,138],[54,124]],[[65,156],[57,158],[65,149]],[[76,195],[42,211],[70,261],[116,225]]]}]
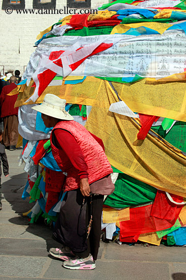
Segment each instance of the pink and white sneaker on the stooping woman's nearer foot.
[{"label": "pink and white sneaker on the stooping woman's nearer foot", "polygon": [[80,259],[78,257],[70,259],[69,261],[63,262],[63,267],[68,269],[94,269],[96,268],[95,261],[92,255],[88,258]]}]

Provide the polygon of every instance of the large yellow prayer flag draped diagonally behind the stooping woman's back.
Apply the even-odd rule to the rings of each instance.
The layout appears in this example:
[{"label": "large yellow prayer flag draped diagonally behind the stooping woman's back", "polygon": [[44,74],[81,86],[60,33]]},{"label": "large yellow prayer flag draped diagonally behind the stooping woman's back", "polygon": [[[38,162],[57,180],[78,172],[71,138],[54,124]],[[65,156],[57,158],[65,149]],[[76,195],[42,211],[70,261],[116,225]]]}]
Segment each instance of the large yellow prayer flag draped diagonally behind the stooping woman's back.
[{"label": "large yellow prayer flag draped diagonally behind the stooping woman's back", "polygon": [[186,156],[151,134],[134,146],[138,123],[108,111],[110,104],[118,101],[113,88],[103,80],[86,124],[91,133],[102,139],[110,164],[155,188],[186,197]]}]

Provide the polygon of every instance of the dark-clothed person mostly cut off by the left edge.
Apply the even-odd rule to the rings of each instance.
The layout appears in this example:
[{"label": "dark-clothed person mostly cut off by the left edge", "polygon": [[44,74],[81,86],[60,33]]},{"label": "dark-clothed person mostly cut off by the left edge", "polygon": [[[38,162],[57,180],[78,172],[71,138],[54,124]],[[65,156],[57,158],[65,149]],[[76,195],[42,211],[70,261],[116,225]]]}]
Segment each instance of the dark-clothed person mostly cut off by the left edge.
[{"label": "dark-clothed person mostly cut off by the left edge", "polygon": [[[3,130],[0,129],[0,142],[3,139]],[[0,210],[2,210],[2,163],[3,163],[3,173],[5,177],[9,176],[9,164],[7,160],[7,155],[5,152],[5,146],[0,144]]]}]

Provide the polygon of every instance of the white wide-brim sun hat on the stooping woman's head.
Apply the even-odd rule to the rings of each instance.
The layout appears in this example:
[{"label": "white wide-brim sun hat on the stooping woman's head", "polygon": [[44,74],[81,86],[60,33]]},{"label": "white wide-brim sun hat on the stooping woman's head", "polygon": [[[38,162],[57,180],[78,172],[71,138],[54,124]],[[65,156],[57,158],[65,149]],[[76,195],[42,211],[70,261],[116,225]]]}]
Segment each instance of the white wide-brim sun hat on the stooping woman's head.
[{"label": "white wide-brim sun hat on the stooping woman's head", "polygon": [[73,117],[65,111],[65,105],[65,99],[61,99],[54,94],[46,94],[43,103],[32,107],[32,109],[56,119],[72,121]]}]

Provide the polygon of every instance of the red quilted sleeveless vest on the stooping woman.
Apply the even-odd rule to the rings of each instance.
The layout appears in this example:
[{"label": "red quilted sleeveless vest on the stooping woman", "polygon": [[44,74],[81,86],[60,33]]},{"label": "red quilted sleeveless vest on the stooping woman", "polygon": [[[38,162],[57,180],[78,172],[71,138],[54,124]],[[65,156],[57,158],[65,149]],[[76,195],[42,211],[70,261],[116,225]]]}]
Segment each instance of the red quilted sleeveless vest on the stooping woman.
[{"label": "red quilted sleeveless vest on the stooping woman", "polygon": [[52,130],[50,142],[52,154],[57,164],[63,172],[67,173],[65,191],[79,188],[80,177],[78,175],[78,170],[73,167],[64,151],[56,148],[53,143],[53,131],[57,128],[69,131],[81,147],[88,165],[89,184],[113,173],[102,147],[83,125],[75,121],[58,122]]}]

